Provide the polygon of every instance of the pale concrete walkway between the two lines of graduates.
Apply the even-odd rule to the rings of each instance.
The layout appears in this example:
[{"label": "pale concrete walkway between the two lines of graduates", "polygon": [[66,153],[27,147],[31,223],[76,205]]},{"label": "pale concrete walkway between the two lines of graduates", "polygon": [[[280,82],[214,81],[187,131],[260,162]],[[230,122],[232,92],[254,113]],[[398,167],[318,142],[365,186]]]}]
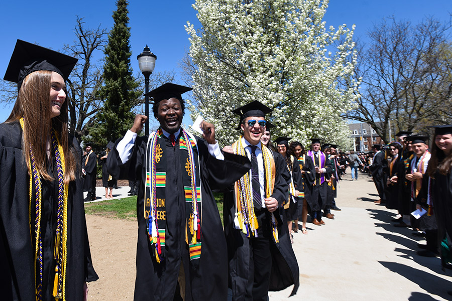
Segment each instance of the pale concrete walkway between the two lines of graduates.
[{"label": "pale concrete walkway between the two lines of graduates", "polygon": [[[334,220],[306,224],[308,234],[294,234],[300,288],[271,292],[270,300],[449,300],[452,271],[444,273],[439,258],[416,255],[418,242],[408,228],[396,228],[395,210],[376,205],[377,190],[367,175],[340,182]],[[308,218],[309,221],[309,218]]]}]

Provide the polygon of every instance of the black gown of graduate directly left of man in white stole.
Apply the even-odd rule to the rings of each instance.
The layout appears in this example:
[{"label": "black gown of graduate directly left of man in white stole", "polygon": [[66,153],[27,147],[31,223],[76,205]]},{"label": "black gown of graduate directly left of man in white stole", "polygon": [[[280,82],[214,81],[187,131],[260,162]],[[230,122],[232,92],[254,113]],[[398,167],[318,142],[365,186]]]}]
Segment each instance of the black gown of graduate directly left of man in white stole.
[{"label": "black gown of graduate directly left of man in white stole", "polygon": [[411,202],[411,182],[405,178],[407,174],[411,173],[411,159],[409,158],[412,154],[412,152],[404,152],[400,164],[398,165],[397,182],[399,182],[399,197],[397,210],[400,214],[405,215],[410,214],[413,211],[411,210],[413,206]]}]

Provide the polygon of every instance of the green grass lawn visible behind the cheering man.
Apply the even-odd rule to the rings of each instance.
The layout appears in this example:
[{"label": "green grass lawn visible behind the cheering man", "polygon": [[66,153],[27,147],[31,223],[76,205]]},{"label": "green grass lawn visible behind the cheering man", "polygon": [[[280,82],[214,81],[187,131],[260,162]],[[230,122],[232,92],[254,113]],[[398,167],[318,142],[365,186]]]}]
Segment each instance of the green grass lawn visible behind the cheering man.
[{"label": "green grass lawn visible behind the cheering man", "polygon": [[[221,222],[223,221],[223,194],[213,193],[216,206],[218,207]],[[85,213],[101,215],[106,217],[136,219],[137,197],[107,200],[96,203],[85,204]]]}]

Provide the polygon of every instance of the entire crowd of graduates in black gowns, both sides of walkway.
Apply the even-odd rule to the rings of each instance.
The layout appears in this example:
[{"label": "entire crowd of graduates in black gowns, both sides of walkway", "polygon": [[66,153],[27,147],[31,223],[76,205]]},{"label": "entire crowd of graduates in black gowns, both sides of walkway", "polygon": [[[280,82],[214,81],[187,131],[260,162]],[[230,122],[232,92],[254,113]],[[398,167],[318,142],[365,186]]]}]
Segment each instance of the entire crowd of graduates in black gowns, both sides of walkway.
[{"label": "entire crowd of graduates in black gowns, both sides of walkway", "polygon": [[[96,156],[82,157],[69,134],[66,85],[77,59],[18,40],[5,79],[18,84],[10,117],[0,124],[0,288],[7,300],[86,300],[93,268],[83,207],[95,198]],[[423,232],[419,255],[435,256],[452,233],[452,126],[426,136],[398,134],[366,157],[338,154],[312,138],[310,149],[290,137],[273,142],[272,109],[259,101],[236,108],[241,135],[219,148],[215,127],[200,136],[181,127],[182,94],[166,83],[148,94],[160,127],[139,136],[138,114],[124,137],[99,156],[105,197],[113,179],[136,181],[138,242],[135,300],[268,299],[269,290],[299,287],[293,232],[307,234],[333,220],[337,183],[347,166],[369,170],[381,200],[398,210],[395,226]],[[50,95],[49,95],[50,91]],[[39,118],[37,118],[37,116]],[[290,141],[290,143],[289,143]],[[109,193],[108,193],[108,188]],[[213,192],[223,192],[223,217]],[[134,192],[135,193],[135,192]],[[410,218],[417,209],[419,219]],[[444,267],[449,267],[442,257]]]}]

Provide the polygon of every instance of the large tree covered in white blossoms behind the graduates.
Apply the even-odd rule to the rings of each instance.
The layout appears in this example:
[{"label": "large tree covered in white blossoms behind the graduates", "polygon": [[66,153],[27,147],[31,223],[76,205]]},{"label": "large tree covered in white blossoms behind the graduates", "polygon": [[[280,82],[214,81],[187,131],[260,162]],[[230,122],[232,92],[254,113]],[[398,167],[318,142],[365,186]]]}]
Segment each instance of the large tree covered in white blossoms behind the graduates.
[{"label": "large tree covered in white blossoms behind the graduates", "polygon": [[192,118],[215,124],[216,137],[231,143],[238,116],[231,111],[253,100],[273,109],[277,135],[309,143],[318,136],[351,146],[343,117],[353,108],[358,83],[353,28],[325,28],[327,1],[197,0],[201,23],[190,23]]}]

